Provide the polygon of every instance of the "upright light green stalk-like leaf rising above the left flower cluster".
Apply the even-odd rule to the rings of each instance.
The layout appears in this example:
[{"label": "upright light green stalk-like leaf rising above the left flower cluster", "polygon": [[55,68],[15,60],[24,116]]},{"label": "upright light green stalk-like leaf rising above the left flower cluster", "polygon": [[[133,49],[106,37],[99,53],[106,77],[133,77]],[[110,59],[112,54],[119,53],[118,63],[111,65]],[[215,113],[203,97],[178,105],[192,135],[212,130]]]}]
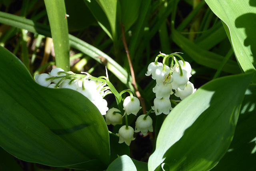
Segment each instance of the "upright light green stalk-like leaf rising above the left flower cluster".
[{"label": "upright light green stalk-like leaf rising above the left flower cluster", "polygon": [[64,0],[44,0],[50,23],[56,66],[70,71],[68,19]]}]

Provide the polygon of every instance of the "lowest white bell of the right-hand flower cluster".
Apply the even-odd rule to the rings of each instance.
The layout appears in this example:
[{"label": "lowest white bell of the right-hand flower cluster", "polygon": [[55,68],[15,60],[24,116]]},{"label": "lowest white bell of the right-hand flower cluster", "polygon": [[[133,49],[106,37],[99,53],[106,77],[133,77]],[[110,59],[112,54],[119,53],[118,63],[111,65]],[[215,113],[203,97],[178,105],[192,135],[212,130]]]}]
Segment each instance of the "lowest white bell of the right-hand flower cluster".
[{"label": "lowest white bell of the right-hand flower cluster", "polygon": [[161,113],[168,115],[170,110],[172,110],[172,105],[169,99],[155,98],[154,106],[152,106],[152,109],[155,111],[156,115],[160,115]]}]

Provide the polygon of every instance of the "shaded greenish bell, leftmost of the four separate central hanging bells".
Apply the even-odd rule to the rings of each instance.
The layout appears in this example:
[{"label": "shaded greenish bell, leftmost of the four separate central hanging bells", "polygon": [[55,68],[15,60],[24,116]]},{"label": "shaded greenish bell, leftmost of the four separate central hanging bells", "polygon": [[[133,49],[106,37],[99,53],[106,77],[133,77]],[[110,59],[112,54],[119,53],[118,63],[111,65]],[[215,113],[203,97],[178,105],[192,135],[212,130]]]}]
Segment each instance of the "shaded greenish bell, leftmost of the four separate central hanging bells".
[{"label": "shaded greenish bell, leftmost of the four separate central hanging bells", "polygon": [[112,107],[109,109],[105,115],[106,117],[106,123],[107,125],[117,125],[117,124],[122,124],[122,115],[120,113],[116,112],[121,112],[119,109],[116,109]]}]

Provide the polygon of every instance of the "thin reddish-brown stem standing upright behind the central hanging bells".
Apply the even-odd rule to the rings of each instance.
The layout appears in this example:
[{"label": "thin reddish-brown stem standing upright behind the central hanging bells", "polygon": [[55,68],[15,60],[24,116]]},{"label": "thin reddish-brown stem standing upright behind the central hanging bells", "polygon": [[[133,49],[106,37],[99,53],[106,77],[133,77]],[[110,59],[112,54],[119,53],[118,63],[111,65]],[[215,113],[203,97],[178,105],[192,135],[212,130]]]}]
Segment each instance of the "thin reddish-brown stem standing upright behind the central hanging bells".
[{"label": "thin reddish-brown stem standing upright behind the central hanging bells", "polygon": [[135,91],[136,96],[140,100],[140,104],[141,104],[141,107],[142,107],[143,114],[147,114],[145,101],[141,97],[140,92],[138,90],[138,87],[136,85],[134,70],[133,70],[133,67],[132,67],[132,60],[130,58],[130,53],[129,53],[128,46],[127,46],[127,43],[126,43],[123,24],[121,24],[121,29],[122,29],[122,41],[123,41],[123,44],[124,44],[124,49],[126,51],[127,59],[128,59],[129,66],[130,66],[131,76],[132,76],[132,86],[134,87],[134,91]]}]

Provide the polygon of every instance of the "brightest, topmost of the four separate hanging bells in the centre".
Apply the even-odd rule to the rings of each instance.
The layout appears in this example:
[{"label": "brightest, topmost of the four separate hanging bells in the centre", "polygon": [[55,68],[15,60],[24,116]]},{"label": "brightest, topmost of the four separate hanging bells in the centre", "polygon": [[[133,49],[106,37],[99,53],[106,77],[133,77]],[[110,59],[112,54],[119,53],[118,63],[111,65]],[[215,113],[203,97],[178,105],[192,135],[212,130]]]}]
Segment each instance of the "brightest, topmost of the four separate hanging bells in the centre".
[{"label": "brightest, topmost of the four separate hanging bells in the centre", "polygon": [[130,115],[131,113],[137,115],[138,111],[141,109],[140,100],[137,97],[133,96],[133,100],[131,96],[128,96],[124,99],[124,114]]}]

